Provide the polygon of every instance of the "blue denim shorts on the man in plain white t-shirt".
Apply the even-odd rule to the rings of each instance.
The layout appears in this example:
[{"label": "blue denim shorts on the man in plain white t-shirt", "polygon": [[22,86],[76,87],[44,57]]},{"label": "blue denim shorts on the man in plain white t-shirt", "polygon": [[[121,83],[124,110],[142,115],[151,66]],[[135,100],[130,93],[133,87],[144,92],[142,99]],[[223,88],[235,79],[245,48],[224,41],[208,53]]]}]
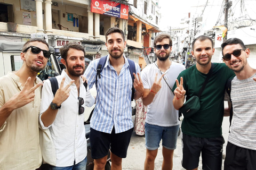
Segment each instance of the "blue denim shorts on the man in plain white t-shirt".
[{"label": "blue denim shorts on the man in plain white t-shirt", "polygon": [[159,143],[162,139],[163,147],[170,150],[176,149],[179,128],[180,125],[165,127],[146,123],[146,148],[148,150],[156,150],[159,148]]}]

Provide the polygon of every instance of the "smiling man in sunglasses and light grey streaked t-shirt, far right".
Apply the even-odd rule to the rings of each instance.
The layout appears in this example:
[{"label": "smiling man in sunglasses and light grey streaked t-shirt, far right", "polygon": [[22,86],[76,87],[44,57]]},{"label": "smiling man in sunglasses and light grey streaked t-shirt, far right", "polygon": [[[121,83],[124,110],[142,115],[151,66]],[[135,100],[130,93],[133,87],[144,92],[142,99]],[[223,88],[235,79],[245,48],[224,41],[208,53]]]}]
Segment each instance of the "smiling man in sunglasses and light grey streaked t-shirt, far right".
[{"label": "smiling man in sunglasses and light grey streaked t-shirt, far right", "polygon": [[256,169],[256,70],[247,62],[250,49],[238,38],[226,40],[221,47],[224,62],[236,74],[231,81],[233,123],[224,169]]}]

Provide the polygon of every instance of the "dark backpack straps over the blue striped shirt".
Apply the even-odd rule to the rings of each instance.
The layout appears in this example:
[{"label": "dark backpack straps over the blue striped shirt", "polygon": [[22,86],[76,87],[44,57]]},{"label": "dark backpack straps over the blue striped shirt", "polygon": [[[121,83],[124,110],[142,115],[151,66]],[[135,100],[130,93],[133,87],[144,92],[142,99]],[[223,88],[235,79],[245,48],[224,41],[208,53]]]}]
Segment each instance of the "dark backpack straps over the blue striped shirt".
[{"label": "dark backpack straps over the blue striped shirt", "polygon": [[[131,97],[131,101],[133,101],[133,98],[134,98],[134,92],[135,92],[135,89],[133,87],[133,82],[134,82],[134,76],[133,76],[133,73],[136,73],[136,69],[135,69],[135,63],[134,61],[128,59],[128,63],[129,63],[129,70],[130,70],[130,74],[131,74],[131,77],[132,77],[132,97]],[[97,75],[96,75],[96,82],[95,82],[95,86],[96,86],[96,89],[98,88],[97,84],[98,84],[98,79],[97,77],[99,77],[100,79],[100,73],[102,72],[103,70],[103,67],[105,66],[106,64],[106,61],[107,61],[107,56],[103,56],[100,58],[100,61],[97,65]]]}]

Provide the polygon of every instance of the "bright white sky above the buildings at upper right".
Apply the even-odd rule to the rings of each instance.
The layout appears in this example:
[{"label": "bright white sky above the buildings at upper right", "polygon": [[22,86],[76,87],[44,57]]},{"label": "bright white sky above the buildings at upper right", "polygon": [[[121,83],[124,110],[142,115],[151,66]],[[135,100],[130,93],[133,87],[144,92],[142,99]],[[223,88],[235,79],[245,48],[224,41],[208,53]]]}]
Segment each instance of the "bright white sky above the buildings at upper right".
[{"label": "bright white sky above the buildings at upper right", "polygon": [[[230,1],[230,0],[229,0]],[[190,12],[190,18],[201,16],[203,13],[202,28],[204,30],[211,30],[220,16],[220,22],[218,24],[223,24],[224,14],[223,14],[223,2],[224,0],[159,0],[160,12],[162,14],[159,28],[162,31],[169,30],[170,27],[179,27],[180,20],[188,17]],[[252,18],[255,20],[255,0],[233,0],[233,4],[229,11],[229,21],[233,21],[235,18],[245,16],[245,18]],[[244,8],[241,10],[241,2],[244,4]],[[205,4],[207,3],[206,8]],[[243,6],[243,5],[242,5]],[[205,9],[205,10],[204,10]],[[247,14],[247,16],[246,16]],[[222,22],[222,23],[221,23]],[[217,25],[218,25],[217,24]],[[244,24],[241,24],[244,25]]]}]

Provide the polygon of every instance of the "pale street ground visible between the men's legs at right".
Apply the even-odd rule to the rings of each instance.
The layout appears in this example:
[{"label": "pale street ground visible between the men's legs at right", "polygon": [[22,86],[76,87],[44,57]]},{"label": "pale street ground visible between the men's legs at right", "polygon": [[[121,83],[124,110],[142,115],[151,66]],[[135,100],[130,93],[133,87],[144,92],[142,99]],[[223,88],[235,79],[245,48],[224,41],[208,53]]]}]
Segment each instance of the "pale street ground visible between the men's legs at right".
[{"label": "pale street ground visible between the men's legs at right", "polygon": [[[133,116],[134,118],[134,116]],[[223,145],[223,155],[226,153],[226,145],[228,140],[228,130],[229,130],[229,117],[223,118],[222,123],[222,134],[225,139],[225,144]],[[132,134],[130,146],[127,151],[127,157],[123,159],[123,169],[124,170],[142,170],[144,167],[144,161],[146,157],[146,147],[145,147],[145,136],[136,135],[135,132]],[[181,166],[182,159],[182,143],[181,143],[181,135],[178,137],[177,141],[177,149],[174,150],[173,157],[173,170],[183,170]],[[161,170],[163,162],[162,156],[162,143],[160,143],[160,147],[158,149],[158,154],[155,160],[155,170]],[[223,169],[222,162],[222,169]],[[199,170],[202,169],[202,163],[199,163]]]}]

